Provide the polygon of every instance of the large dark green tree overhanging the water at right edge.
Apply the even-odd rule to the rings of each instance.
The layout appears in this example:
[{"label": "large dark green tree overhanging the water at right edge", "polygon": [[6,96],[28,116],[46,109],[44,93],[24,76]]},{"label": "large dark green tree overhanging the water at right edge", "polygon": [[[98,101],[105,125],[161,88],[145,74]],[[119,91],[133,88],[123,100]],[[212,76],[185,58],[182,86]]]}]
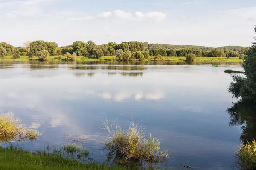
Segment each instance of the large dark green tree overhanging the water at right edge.
[{"label": "large dark green tree overhanging the water at right edge", "polygon": [[228,91],[235,98],[241,97],[242,100],[256,102],[256,38],[252,47],[247,51],[243,68],[244,76],[232,75],[233,82],[230,83]]}]

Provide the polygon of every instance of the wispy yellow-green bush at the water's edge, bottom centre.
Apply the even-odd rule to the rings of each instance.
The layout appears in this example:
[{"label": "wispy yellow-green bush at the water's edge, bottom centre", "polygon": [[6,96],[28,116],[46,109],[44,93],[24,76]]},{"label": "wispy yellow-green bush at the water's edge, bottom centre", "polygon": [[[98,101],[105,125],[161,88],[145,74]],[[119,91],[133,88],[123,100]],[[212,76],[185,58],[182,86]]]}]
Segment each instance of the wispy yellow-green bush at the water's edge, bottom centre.
[{"label": "wispy yellow-green bush at the water's edge, bottom centre", "polygon": [[145,138],[146,130],[140,123],[130,122],[128,130],[123,130],[115,125],[115,122],[110,125],[108,120],[103,122],[103,129],[107,130],[105,149],[109,151],[108,159],[121,164],[129,163],[159,163],[166,161],[168,154],[167,150],[160,151],[160,142],[151,136]]}]

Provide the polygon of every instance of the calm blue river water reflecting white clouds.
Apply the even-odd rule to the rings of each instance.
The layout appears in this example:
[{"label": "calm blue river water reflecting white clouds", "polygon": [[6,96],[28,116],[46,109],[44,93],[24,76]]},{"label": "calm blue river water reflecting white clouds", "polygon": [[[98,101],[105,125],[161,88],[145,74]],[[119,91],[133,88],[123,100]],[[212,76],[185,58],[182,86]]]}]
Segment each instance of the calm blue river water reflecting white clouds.
[{"label": "calm blue river water reflecting white clouds", "polygon": [[83,146],[102,161],[102,121],[117,118],[127,128],[132,116],[169,149],[169,166],[231,169],[241,128],[229,125],[234,99],[223,71],[241,65],[110,64],[0,62],[0,111],[44,132],[23,147],[58,147],[69,135],[86,135]]}]

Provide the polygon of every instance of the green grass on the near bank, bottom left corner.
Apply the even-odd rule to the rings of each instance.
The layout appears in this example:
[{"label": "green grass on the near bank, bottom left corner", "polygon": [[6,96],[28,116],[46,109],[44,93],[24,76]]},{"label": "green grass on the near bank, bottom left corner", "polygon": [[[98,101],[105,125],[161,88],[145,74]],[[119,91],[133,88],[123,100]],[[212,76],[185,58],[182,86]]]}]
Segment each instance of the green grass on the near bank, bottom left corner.
[{"label": "green grass on the near bank, bottom left corner", "polygon": [[26,150],[0,147],[0,170],[126,170],[104,164],[65,159],[58,154],[30,153]]}]

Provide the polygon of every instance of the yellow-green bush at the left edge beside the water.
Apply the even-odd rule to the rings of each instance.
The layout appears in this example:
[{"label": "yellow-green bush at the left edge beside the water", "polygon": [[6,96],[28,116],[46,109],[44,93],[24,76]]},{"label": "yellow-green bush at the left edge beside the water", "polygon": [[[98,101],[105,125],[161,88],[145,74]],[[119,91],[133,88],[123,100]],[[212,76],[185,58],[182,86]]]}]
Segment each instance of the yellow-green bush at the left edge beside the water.
[{"label": "yellow-green bush at the left edge beside the water", "polygon": [[13,113],[0,113],[0,143],[32,141],[38,139],[40,136],[41,133],[26,127],[20,119],[14,117]]}]

